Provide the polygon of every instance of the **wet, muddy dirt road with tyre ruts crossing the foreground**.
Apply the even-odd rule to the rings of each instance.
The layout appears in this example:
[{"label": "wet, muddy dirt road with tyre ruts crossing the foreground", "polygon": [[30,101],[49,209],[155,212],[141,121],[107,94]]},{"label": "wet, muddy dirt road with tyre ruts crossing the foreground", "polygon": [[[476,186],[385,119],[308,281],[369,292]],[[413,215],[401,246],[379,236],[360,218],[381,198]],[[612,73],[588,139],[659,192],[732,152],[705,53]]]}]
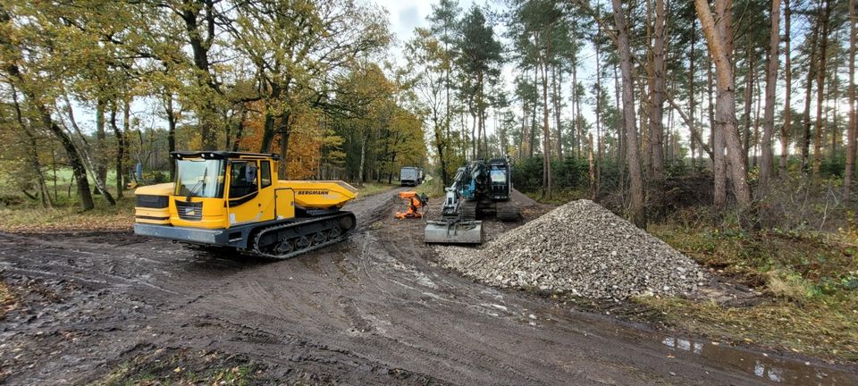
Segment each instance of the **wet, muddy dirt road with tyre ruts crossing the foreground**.
[{"label": "wet, muddy dirt road with tyre ruts crossing the foreground", "polygon": [[394,194],[349,206],[361,228],[348,242],[280,262],[129,233],[0,234],[17,297],[0,320],[0,381],[110,382],[148,359],[177,361],[174,373],[249,361],[257,380],[277,383],[858,379],[855,368],[664,336],[467,280],[434,263],[422,222],[391,219]]}]

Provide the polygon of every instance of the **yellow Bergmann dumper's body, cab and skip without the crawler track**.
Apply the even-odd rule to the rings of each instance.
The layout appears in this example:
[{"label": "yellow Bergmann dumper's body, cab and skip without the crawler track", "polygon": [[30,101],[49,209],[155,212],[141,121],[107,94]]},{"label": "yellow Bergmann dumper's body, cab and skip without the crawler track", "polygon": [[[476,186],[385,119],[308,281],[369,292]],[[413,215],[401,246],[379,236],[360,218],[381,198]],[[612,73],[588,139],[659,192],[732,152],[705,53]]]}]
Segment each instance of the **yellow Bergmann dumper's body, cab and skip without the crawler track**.
[{"label": "yellow Bergmann dumper's body, cab and skip without the crawler track", "polygon": [[[276,155],[173,152],[171,156],[177,165],[174,182],[134,191],[139,234],[250,248],[248,237],[259,224],[337,214],[357,197],[357,189],[339,180],[277,180]],[[344,231],[353,227],[349,215],[352,223]]]}]

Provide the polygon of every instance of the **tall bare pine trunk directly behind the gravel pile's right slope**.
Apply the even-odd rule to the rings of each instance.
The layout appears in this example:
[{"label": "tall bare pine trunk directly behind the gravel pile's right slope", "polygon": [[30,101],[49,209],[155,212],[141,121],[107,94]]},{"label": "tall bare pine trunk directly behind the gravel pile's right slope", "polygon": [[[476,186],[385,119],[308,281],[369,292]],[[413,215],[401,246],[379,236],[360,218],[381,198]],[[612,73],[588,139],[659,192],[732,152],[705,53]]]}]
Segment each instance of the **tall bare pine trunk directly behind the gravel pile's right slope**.
[{"label": "tall bare pine trunk directly behind the gravel pile's right slope", "polygon": [[637,143],[637,128],[635,122],[635,84],[632,80],[631,48],[628,42],[626,16],[621,1],[612,0],[614,23],[617,25],[617,46],[619,49],[619,66],[622,72],[623,116],[627,138],[627,161],[630,186],[629,218],[640,228],[646,228],[644,213],[644,178],[641,173],[640,147]]}]

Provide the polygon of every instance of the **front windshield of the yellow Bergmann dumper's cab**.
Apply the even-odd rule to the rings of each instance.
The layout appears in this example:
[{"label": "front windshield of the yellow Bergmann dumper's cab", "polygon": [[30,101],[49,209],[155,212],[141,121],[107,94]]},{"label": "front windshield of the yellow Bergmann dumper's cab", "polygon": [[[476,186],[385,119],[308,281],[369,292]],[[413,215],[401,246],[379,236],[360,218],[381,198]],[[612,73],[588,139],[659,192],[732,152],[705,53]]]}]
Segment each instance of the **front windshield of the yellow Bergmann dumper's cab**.
[{"label": "front windshield of the yellow Bergmann dumper's cab", "polygon": [[223,160],[188,159],[176,163],[176,196],[223,197]]}]

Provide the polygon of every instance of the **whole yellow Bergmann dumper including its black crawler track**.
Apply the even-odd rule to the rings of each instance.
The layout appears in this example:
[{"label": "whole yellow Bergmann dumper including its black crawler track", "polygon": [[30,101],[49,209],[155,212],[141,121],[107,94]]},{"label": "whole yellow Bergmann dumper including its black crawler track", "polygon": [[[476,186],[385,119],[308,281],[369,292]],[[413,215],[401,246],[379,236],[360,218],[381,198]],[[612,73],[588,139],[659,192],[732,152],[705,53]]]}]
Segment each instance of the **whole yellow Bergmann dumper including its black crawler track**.
[{"label": "whole yellow Bergmann dumper including its black crawler track", "polygon": [[278,155],[172,152],[176,180],[134,191],[134,232],[290,258],[346,239],[357,197],[343,181],[277,180]]}]

